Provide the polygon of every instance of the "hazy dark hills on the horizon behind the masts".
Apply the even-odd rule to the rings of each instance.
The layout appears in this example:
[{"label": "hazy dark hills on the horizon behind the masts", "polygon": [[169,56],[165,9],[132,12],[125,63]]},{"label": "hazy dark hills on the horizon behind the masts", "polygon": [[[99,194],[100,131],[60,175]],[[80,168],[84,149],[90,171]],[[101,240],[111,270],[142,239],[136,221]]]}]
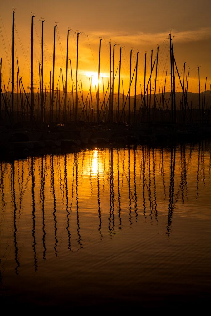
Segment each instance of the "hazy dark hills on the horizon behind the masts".
[{"label": "hazy dark hills on the horizon behind the masts", "polygon": [[[3,97],[4,96],[4,97]],[[1,97],[1,108],[4,108],[4,99],[6,100],[7,106],[9,103],[9,93],[6,94],[6,98],[5,98],[5,94],[3,94],[3,96]],[[176,100],[176,109],[180,110],[181,109],[181,104],[182,104],[182,92],[176,92],[175,93],[175,100]],[[28,98],[28,102],[30,103],[30,94],[27,96]],[[25,94],[23,94],[22,96],[20,94],[14,94],[14,110],[16,110],[16,108],[18,108],[18,111],[21,110],[21,102],[23,104],[23,107],[26,108],[27,106],[27,98],[25,96]],[[39,98],[39,101],[38,101]],[[44,93],[44,98],[45,98],[45,109],[48,110],[49,109],[49,104],[50,104],[50,93]],[[90,94],[88,94],[87,91],[83,91],[83,101],[82,101],[82,96],[80,94],[80,92],[78,91],[78,105],[79,108],[83,106],[83,102],[86,102],[86,106],[91,106],[91,104],[93,104],[93,107],[96,109],[97,107],[97,96],[95,91],[92,92],[92,98],[90,97]],[[155,106],[156,108],[162,108],[163,106],[163,98],[162,98],[162,94],[156,93],[156,102],[155,102]],[[123,102],[124,101],[124,102]],[[125,103],[125,110],[129,109],[129,96],[127,97],[127,95],[124,95],[122,93],[120,93],[120,100],[119,100],[119,108],[120,110],[122,110],[123,108],[123,104]],[[104,104],[103,104],[104,102]],[[114,93],[114,109],[117,109],[117,104],[118,104],[118,93]],[[145,96],[145,102],[146,102],[146,106],[149,107],[149,94],[147,94]],[[184,101],[183,101],[184,102]],[[198,109],[199,108],[199,94],[198,93],[191,93],[188,92],[187,94],[187,102],[189,107],[192,109]],[[70,92],[67,93],[67,104],[69,106],[69,104],[71,104],[71,107],[73,107],[73,103],[75,104],[75,93],[72,94]],[[36,92],[34,92],[34,108],[37,109],[39,104],[40,107],[40,94],[38,95]],[[81,104],[81,106],[80,106]],[[101,109],[103,104],[103,108],[106,106],[106,108],[108,109],[109,107],[109,100],[108,100],[108,93],[105,94],[105,100],[104,100],[104,96],[103,93],[99,94],[99,109]],[[151,94],[151,108],[154,107],[154,94]],[[204,104],[204,108],[210,108],[211,107],[211,93],[210,91],[206,91],[205,94],[205,103],[204,103],[204,92],[200,93],[200,107],[202,109],[202,104]],[[55,92],[54,94],[54,109],[59,108],[63,109],[63,105],[64,105],[64,98],[63,98],[63,92],[60,92],[60,106],[59,106],[59,94],[57,94],[57,92]],[[138,94],[136,95],[136,109],[139,110],[139,108],[141,107],[141,105],[143,105],[143,94]],[[130,109],[132,111],[134,106],[134,95],[131,96],[130,98]],[[164,109],[166,109],[168,106],[169,109],[171,109],[171,92],[166,92],[165,93],[165,101],[164,101]]]}]

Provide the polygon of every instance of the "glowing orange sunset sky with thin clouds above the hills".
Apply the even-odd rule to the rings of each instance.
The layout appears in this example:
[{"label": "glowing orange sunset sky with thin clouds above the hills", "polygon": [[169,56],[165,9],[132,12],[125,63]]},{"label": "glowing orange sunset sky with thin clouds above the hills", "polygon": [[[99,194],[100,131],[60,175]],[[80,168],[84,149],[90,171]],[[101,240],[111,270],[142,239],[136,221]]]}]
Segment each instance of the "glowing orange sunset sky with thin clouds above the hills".
[{"label": "glowing orange sunset sky with thin clouds above the hills", "polygon": [[[53,30],[57,22],[56,32],[56,61],[55,61],[55,84],[57,84],[60,67],[63,71],[65,80],[66,63],[66,40],[67,30],[69,32],[69,58],[72,63],[73,80],[75,82],[76,67],[76,41],[77,35],[74,32],[81,32],[79,35],[79,83],[82,80],[84,90],[89,89],[89,76],[97,76],[98,57],[99,57],[99,38],[101,42],[101,67],[100,76],[104,77],[106,89],[107,76],[109,76],[109,41],[112,50],[115,46],[115,72],[119,62],[120,45],[122,48],[121,63],[121,88],[122,80],[124,83],[124,94],[129,88],[129,69],[130,69],[130,49],[133,48],[132,69],[136,64],[136,54],[139,51],[137,94],[141,92],[140,83],[143,85],[144,78],[144,55],[147,52],[147,82],[150,72],[151,50],[153,60],[156,56],[157,46],[159,45],[159,62],[157,88],[164,87],[165,73],[170,72],[168,58],[169,41],[168,33],[171,31],[174,44],[174,55],[178,65],[178,70],[182,73],[183,63],[186,62],[186,75],[190,67],[189,91],[198,91],[197,67],[200,67],[200,86],[204,90],[205,76],[207,79],[207,89],[211,83],[211,25],[210,25],[210,1],[194,0],[191,5],[188,1],[169,1],[156,2],[154,0],[147,3],[136,3],[130,1],[130,7],[126,1],[107,1],[106,4],[92,1],[88,3],[84,0],[80,3],[73,3],[66,0],[51,1],[13,1],[12,4],[5,2],[1,5],[1,57],[3,84],[8,84],[9,62],[11,62],[11,35],[12,35],[12,12],[15,10],[15,59],[18,59],[20,76],[23,78],[25,88],[30,82],[30,45],[31,45],[31,12],[34,12],[34,82],[38,84],[39,64],[41,60],[41,22],[44,22],[44,80],[49,84],[50,71],[52,71],[53,56]],[[4,43],[3,43],[4,41]],[[68,65],[69,67],[69,65]],[[132,70],[132,71],[133,71]],[[17,69],[15,65],[15,77]],[[154,68],[155,76],[155,68]],[[153,76],[153,84],[154,84]],[[68,90],[70,86],[70,67],[68,70]],[[135,79],[135,78],[134,78]],[[133,82],[132,89],[135,86]],[[178,82],[176,82],[178,85]],[[166,90],[169,90],[170,80],[167,75]],[[93,86],[94,88],[94,86]],[[100,92],[103,91],[102,80],[100,81]],[[114,91],[118,91],[118,71],[114,85]],[[181,91],[178,86],[177,91]]]}]

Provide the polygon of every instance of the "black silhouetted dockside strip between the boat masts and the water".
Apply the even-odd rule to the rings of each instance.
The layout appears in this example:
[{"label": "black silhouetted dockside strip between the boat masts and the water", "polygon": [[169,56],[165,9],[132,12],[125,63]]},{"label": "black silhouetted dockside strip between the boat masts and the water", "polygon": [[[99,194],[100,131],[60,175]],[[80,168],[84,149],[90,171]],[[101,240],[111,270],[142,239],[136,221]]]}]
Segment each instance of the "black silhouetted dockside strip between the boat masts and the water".
[{"label": "black silhouetted dockside strip between the boat masts and the water", "polygon": [[148,143],[196,142],[211,137],[211,125],[182,126],[172,123],[128,125],[58,126],[51,131],[1,128],[1,158],[75,152],[95,147]]}]

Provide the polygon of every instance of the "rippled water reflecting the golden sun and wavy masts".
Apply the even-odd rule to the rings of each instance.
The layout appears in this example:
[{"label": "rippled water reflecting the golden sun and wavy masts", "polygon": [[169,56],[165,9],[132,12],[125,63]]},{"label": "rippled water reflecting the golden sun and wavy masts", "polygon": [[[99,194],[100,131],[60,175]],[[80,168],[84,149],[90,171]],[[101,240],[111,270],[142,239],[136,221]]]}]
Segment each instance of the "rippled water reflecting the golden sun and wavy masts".
[{"label": "rippled water reflecting the golden sun and wavy masts", "polygon": [[210,152],[204,141],[0,162],[2,306],[208,306]]}]

